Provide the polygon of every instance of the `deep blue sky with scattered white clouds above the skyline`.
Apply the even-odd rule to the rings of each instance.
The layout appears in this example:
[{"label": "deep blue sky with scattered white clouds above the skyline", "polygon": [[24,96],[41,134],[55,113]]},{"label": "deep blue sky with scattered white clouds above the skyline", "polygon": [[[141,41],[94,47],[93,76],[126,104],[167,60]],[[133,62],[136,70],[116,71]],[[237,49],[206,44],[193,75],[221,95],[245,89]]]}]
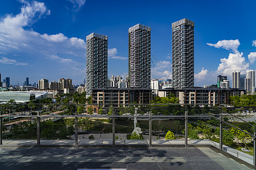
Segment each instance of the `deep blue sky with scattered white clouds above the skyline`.
[{"label": "deep blue sky with scattered white clouds above the skyline", "polygon": [[127,75],[128,29],[151,27],[152,78],[171,77],[171,23],[195,22],[195,86],[255,70],[255,1],[1,0],[0,73],[11,84],[85,76],[85,37],[108,35],[108,75]]}]

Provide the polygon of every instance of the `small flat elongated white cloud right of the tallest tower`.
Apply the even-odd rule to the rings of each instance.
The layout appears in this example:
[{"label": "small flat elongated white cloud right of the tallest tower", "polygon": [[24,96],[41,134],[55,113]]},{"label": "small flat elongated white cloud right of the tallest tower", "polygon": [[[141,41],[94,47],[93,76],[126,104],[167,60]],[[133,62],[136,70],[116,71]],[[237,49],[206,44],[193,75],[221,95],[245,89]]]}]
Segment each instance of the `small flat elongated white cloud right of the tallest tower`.
[{"label": "small flat elongated white cloud right of the tallest tower", "polygon": [[221,40],[216,44],[207,43],[209,46],[214,46],[216,48],[224,48],[226,50],[232,50],[234,53],[239,53],[237,48],[240,45],[239,40]]}]

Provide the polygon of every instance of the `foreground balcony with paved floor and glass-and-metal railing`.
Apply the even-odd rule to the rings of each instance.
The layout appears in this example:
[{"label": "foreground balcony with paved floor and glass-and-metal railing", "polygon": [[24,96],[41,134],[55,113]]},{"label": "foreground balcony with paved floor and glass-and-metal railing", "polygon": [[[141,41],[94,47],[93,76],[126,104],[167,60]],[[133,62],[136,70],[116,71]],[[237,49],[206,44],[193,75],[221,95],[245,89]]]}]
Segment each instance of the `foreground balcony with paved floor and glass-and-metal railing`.
[{"label": "foreground balcony with paved floor and glass-and-metal railing", "polygon": [[[122,108],[115,104],[112,111],[108,111],[111,105],[101,104],[101,107],[104,108],[103,113],[98,114],[97,109],[92,109],[92,112],[87,109],[88,112],[91,112],[89,114],[77,113],[77,108],[81,106],[94,108],[99,105],[19,104],[18,107],[14,107],[14,104],[2,104],[1,118],[5,120],[1,121],[1,168],[77,169],[108,167],[138,169],[141,167],[142,169],[154,169],[152,166],[159,169],[164,169],[166,166],[172,169],[191,169],[195,166],[199,169],[254,168],[253,156],[222,145],[224,142],[222,130],[226,130],[226,125],[231,125],[230,122],[223,121],[222,117],[236,118],[233,114],[215,107],[210,107],[211,113],[205,114],[203,109],[201,109],[202,112],[197,109],[197,114],[195,114],[192,111],[195,108],[188,108],[188,111],[184,112],[185,106],[182,105],[179,107],[172,104],[119,105],[122,105]],[[20,109],[20,111],[23,109],[23,111],[16,112],[14,108]],[[120,115],[119,112],[122,109],[123,113]],[[174,109],[179,113],[172,114]],[[109,112],[112,115],[106,114]],[[10,120],[6,121],[6,117],[9,117]],[[96,120],[103,118],[108,120],[108,124],[102,123],[102,127],[105,126],[104,130],[101,128],[88,130],[88,128],[92,128],[92,126],[87,126],[89,122],[97,122]],[[122,122],[120,122],[120,118],[123,119]],[[213,142],[210,139],[188,138],[191,132],[189,131],[191,125],[188,126],[188,123],[193,124],[192,122],[197,122],[196,120],[199,118],[212,119],[219,123],[220,142]],[[61,124],[61,122],[65,122],[64,120],[68,121],[68,124]],[[144,139],[128,139],[127,134],[131,134],[134,129],[134,120],[139,122],[142,130],[141,135]],[[19,125],[15,125],[18,121],[20,121]],[[177,131],[166,126],[174,124],[174,121],[179,122]],[[26,124],[22,124],[22,122],[26,122]],[[31,131],[26,128],[18,129],[20,125],[23,127],[31,125],[34,128],[31,128]],[[207,125],[205,129],[217,128],[216,125],[215,127],[205,125]],[[14,126],[14,130],[8,129],[10,126]],[[73,130],[68,134],[61,131],[64,128],[68,129],[68,127],[73,127]],[[167,130],[163,128],[167,128]],[[232,128],[246,132],[236,128],[236,126],[232,126]],[[181,133],[183,129],[184,134]],[[174,132],[176,139],[164,139],[168,130],[176,131]],[[252,134],[246,134],[255,138]],[[204,163],[202,163],[202,159]]]}]

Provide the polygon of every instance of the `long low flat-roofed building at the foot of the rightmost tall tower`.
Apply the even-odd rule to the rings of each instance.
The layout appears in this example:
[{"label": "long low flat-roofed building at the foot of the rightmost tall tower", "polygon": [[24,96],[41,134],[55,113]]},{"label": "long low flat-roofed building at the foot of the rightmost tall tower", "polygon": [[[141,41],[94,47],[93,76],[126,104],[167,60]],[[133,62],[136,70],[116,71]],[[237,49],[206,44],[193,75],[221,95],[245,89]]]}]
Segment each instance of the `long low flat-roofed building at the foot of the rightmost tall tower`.
[{"label": "long low flat-roofed building at the foot of the rightmost tall tower", "polygon": [[180,104],[209,104],[209,105],[221,105],[230,104],[231,95],[245,95],[244,90],[238,89],[225,89],[225,88],[213,88],[213,87],[193,87],[193,88],[166,88],[159,90],[160,97],[166,97],[169,94],[174,94],[179,97]]}]

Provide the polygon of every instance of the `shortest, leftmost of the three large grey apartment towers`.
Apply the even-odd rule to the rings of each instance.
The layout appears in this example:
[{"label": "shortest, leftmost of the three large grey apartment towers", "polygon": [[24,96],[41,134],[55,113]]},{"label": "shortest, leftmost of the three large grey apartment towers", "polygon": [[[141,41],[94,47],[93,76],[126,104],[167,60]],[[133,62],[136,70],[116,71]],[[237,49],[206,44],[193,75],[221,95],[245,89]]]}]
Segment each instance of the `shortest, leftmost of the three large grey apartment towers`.
[{"label": "shortest, leftmost of the three large grey apartment towers", "polygon": [[93,88],[108,87],[108,36],[91,33],[86,36],[86,94]]}]

